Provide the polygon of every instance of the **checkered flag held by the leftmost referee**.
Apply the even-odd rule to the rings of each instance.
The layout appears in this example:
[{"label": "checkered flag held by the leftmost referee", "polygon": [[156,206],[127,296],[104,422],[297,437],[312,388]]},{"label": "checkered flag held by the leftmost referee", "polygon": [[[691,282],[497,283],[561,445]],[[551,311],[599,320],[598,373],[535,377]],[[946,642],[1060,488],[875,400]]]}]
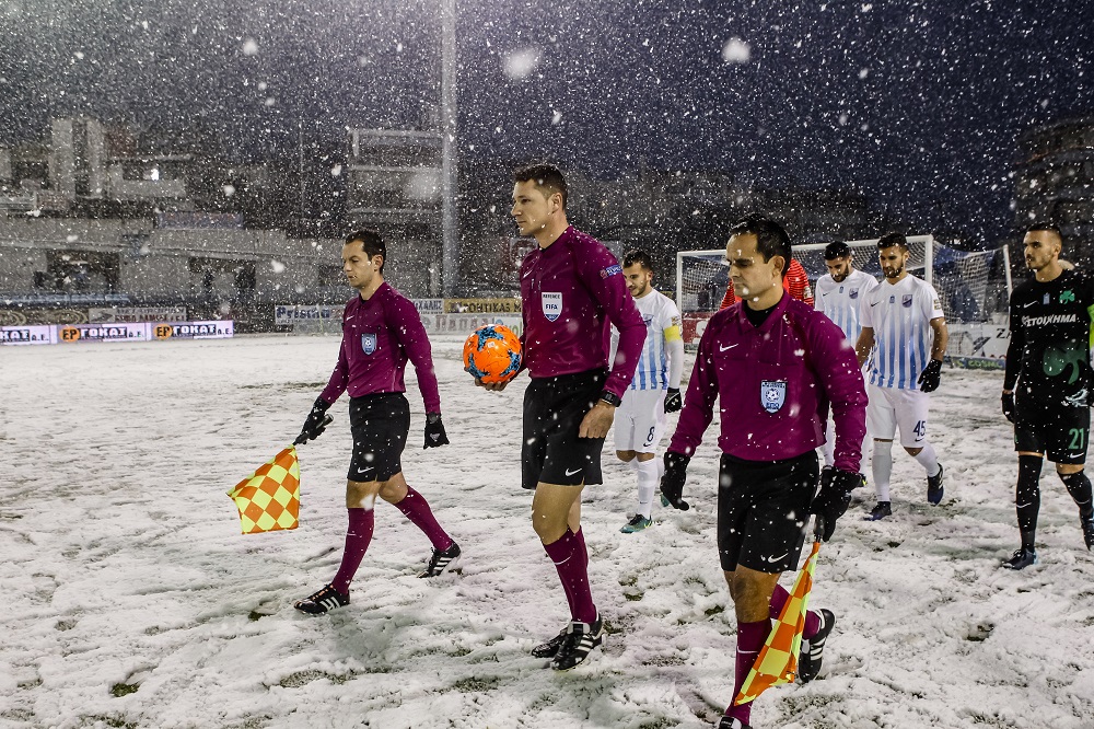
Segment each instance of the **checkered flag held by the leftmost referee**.
[{"label": "checkered flag held by the leftmost referee", "polygon": [[258,466],[228,493],[240,509],[244,534],[296,529],[300,519],[300,464],[290,445]]}]

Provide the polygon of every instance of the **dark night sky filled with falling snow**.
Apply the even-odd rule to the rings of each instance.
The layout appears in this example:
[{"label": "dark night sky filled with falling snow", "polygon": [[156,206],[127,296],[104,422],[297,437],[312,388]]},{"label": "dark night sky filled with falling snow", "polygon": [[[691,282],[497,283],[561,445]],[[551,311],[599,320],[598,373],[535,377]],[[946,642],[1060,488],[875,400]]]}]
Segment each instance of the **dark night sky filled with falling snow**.
[{"label": "dark night sky filled with falling snow", "polygon": [[[240,159],[419,126],[440,0],[0,0],[0,144],[91,114]],[[846,187],[998,243],[1029,125],[1094,114],[1094,3],[457,0],[459,144]],[[737,38],[738,42],[733,39]],[[729,60],[726,60],[729,58]]]}]

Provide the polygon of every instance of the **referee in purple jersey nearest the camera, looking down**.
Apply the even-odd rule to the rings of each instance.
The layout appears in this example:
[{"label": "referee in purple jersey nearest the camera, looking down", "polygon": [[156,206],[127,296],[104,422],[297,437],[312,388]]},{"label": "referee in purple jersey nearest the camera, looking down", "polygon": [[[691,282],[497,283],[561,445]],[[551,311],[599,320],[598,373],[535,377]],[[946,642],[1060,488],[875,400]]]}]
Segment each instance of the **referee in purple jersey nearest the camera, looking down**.
[{"label": "referee in purple jersey nearest the camera, looking down", "polygon": [[[661,493],[666,506],[688,508],[682,499],[687,465],[718,401],[718,553],[737,618],[736,696],[771,618],[790,597],[779,576],[798,566],[810,513],[817,514],[827,541],[851,489],[862,484],[866,393],[840,328],[783,291],[791,246],[782,227],[760,216],[738,221],[730,229],[725,259],[743,301],[714,314],[699,340]],[[816,494],[814,449],[824,442],[829,405],[836,468]],[[834,624],[830,611],[807,611],[800,681],[819,671]],[[752,703],[731,704],[718,726],[747,729],[750,713]]]}]

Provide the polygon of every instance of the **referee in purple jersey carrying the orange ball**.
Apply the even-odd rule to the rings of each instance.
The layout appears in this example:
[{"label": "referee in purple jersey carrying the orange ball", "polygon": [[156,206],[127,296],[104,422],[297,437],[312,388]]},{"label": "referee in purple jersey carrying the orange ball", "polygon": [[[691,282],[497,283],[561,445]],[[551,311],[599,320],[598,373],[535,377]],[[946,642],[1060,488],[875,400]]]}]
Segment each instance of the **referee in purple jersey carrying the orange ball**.
[{"label": "referee in purple jersey carrying the orange ball", "polygon": [[[537,164],[513,178],[513,218],[521,235],[539,244],[521,264],[522,368],[532,375],[524,392],[521,479],[535,489],[532,526],[555,563],[571,618],[532,655],[565,671],[603,640],[589,588],[581,489],[603,483],[601,449],[635,377],[645,324],[615,256],[567,221],[566,177],[558,167]],[[612,324],[619,344],[609,369]]]}]

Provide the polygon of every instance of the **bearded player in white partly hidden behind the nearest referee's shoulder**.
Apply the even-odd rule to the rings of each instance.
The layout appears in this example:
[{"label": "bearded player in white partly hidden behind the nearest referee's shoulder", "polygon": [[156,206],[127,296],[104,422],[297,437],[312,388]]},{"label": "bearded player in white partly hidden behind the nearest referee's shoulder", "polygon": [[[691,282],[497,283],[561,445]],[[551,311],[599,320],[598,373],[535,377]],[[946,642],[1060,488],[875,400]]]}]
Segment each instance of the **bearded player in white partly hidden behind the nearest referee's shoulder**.
[{"label": "bearded player in white partly hidden behind the nearest referee's shoulder", "polygon": [[[833,241],[825,247],[824,264],[828,268],[828,273],[818,278],[814,287],[815,308],[830,319],[853,346],[862,332],[859,309],[866,294],[877,287],[877,279],[854,267],[851,263],[851,248],[842,241]],[[863,377],[869,378],[870,373],[863,372]],[[862,441],[863,467],[866,461],[869,438],[870,433],[868,432]],[[825,473],[833,467],[835,444],[836,426],[834,420],[828,418],[824,442]]]}]

